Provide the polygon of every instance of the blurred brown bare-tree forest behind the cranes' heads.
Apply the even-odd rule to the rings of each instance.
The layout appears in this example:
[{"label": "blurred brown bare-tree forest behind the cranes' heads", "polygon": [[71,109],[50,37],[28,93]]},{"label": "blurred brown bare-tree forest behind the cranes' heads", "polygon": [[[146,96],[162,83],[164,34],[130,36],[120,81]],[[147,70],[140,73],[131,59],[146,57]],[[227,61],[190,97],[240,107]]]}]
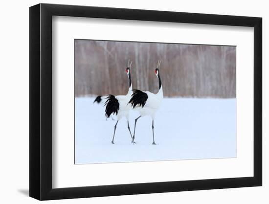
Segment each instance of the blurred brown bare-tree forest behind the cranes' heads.
[{"label": "blurred brown bare-tree forest behind the cranes' heads", "polygon": [[235,46],[94,40],[75,40],[75,96],[126,94],[128,59],[133,89],[157,92],[160,59],[164,97],[236,96]]}]

